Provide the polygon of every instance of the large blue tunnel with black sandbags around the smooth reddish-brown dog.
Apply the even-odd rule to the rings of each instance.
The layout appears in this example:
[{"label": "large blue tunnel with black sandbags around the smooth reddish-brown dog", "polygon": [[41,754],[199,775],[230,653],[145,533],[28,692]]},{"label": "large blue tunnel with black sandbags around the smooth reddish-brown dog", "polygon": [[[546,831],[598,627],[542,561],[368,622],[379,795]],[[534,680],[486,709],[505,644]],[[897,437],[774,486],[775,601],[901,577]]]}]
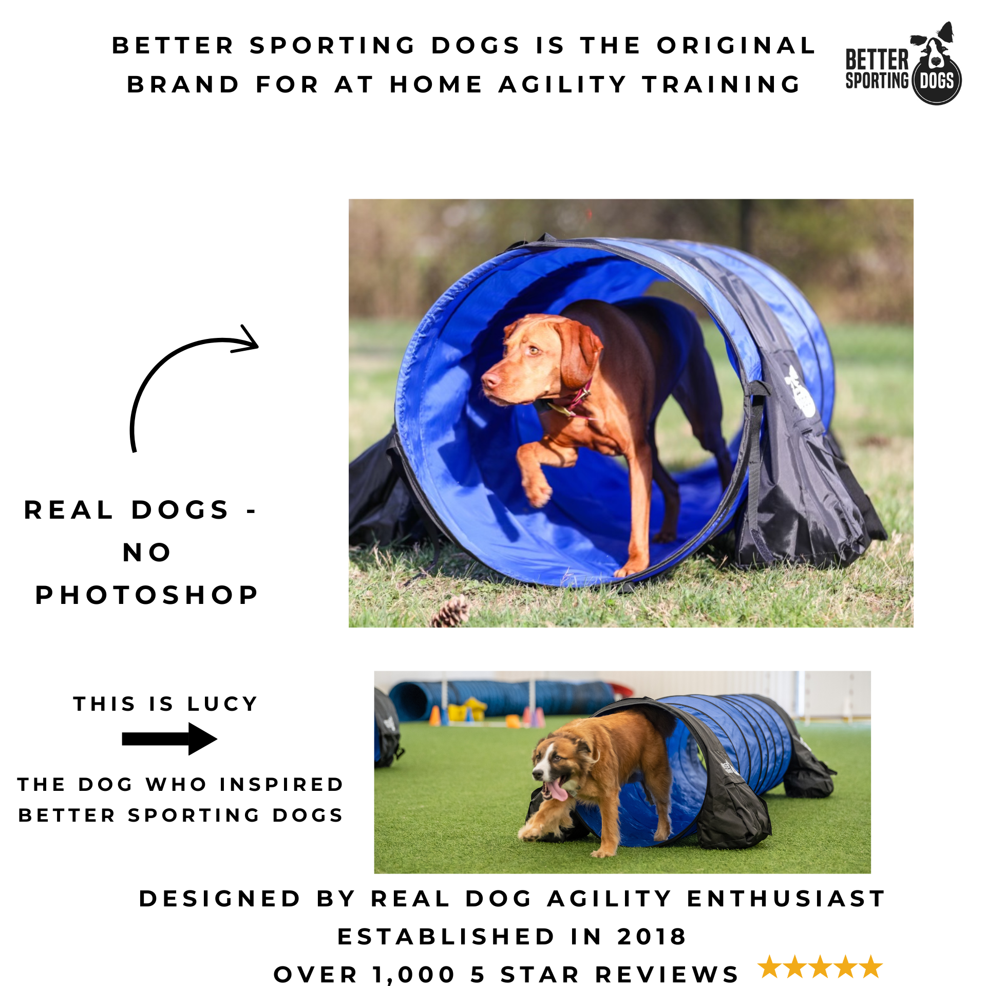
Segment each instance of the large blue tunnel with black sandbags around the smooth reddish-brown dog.
[{"label": "large blue tunnel with black sandbags around the smooth reddish-brown dog", "polygon": [[[676,475],[678,537],[652,544],[651,567],[630,578],[668,569],[731,525],[743,566],[848,564],[871,538],[885,537],[828,434],[832,354],[821,322],[787,278],[726,246],[550,238],[516,245],[466,274],[407,346],[389,448],[432,529],[522,582],[621,581],[613,572],[625,561],[630,530],[625,468],[584,450],[574,467],[550,470],[547,506],[530,507],[515,454],[540,438],[537,413],[530,405],[494,406],[480,377],[500,358],[503,329],[516,319],[559,313],[580,299],[625,302],[660,281],[690,295],[722,333],[745,395],[743,423],[730,443],[729,487],[714,461]],[[350,468],[351,537],[354,517],[367,513],[354,500],[353,469],[365,475],[374,456],[383,458],[376,449]],[[663,513],[655,484],[652,529]]]}]

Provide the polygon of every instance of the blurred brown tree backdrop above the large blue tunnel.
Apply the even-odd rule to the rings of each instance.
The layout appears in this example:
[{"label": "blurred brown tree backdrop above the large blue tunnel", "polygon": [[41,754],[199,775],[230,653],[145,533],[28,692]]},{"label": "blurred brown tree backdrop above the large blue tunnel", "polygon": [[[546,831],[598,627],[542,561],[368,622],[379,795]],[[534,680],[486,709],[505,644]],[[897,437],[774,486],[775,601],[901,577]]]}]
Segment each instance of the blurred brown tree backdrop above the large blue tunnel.
[{"label": "blurred brown tree backdrop above the large blue tunnel", "polygon": [[827,322],[913,321],[914,209],[892,199],[355,199],[349,314],[418,321],[473,267],[542,233],[738,246]]}]

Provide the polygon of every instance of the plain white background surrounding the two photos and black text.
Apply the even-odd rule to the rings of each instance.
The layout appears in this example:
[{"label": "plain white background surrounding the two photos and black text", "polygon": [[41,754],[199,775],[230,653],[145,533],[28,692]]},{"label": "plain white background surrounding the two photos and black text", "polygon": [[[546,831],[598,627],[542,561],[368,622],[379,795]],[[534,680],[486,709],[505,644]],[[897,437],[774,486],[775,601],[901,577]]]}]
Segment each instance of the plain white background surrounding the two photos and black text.
[{"label": "plain white background surrounding the two photos and black text", "polygon": [[[963,67],[949,106],[910,92],[844,88],[846,47],[907,46],[951,18]],[[386,921],[371,887],[488,891],[611,886],[795,890],[879,887],[879,911],[677,910],[688,944],[676,962],[733,963],[759,978],[768,951],[873,955],[880,979],[971,978],[964,941],[981,871],[982,799],[970,781],[979,692],[977,547],[982,90],[981,19],[969,3],[656,6],[580,2],[442,8],[436,4],[54,2],[3,15],[4,387],[2,626],[5,740],[5,967],[11,982],[267,983],[280,964],[369,968],[430,961],[656,961],[637,950],[333,947],[337,924],[549,925],[523,914],[408,910]],[[562,35],[564,55],[428,53],[431,35]],[[810,56],[657,58],[658,36],[789,35]],[[229,35],[232,56],[113,56],[113,35]],[[412,35],[413,56],[246,54],[252,35]],[[647,55],[578,54],[579,35],[636,35]],[[776,41],[775,41],[776,43]],[[913,51],[913,49],[912,49]],[[646,66],[646,67],[642,67]],[[693,67],[695,66],[695,67]],[[641,74],[796,74],[797,95],[650,97]],[[497,95],[500,78],[626,75],[623,92]],[[131,95],[129,74],[233,74],[236,94]],[[317,95],[255,95],[257,74],[314,74]],[[477,96],[389,95],[390,74],[479,74]],[[336,78],[373,74],[368,96],[333,95]],[[779,88],[779,87],[778,87]],[[473,633],[461,640],[345,629],[342,567],[346,429],[347,199],[358,197],[908,197],[915,199],[915,422],[920,580],[917,628],[901,632],[671,632],[599,635],[641,669],[846,668],[873,671],[874,873],[865,877],[653,877],[606,880],[373,876],[368,693],[374,668],[422,663],[539,668],[567,649],[562,631]],[[541,231],[532,231],[534,235]],[[660,231],[655,231],[660,234]],[[201,346],[159,372],[127,443],[130,403],[164,355],[198,338],[239,336],[230,356]],[[126,520],[131,499],[225,499],[223,522]],[[103,499],[113,520],[27,522],[24,500]],[[256,511],[246,515],[246,509]],[[122,562],[122,544],[169,544],[169,561]],[[135,574],[135,570],[136,573]],[[34,603],[36,584],[202,584],[257,588],[240,606]],[[580,641],[585,641],[583,636]],[[509,640],[509,646],[505,642]],[[978,644],[981,649],[981,644]],[[595,658],[587,659],[587,667]],[[928,664],[960,686],[928,707]],[[164,717],[76,713],[73,695],[257,696],[251,713]],[[121,748],[121,730],[220,737],[193,760],[179,749]],[[147,795],[22,796],[16,777],[337,776],[343,791],[252,803],[339,806],[338,824],[166,826],[22,824],[21,807],[157,804]],[[157,796],[163,805],[185,804]],[[196,797],[196,806],[232,801]],[[600,866],[600,873],[603,873]],[[305,906],[140,909],[141,888],[356,889],[349,914]],[[357,904],[355,901],[359,900]],[[652,915],[581,916],[591,926],[655,925]],[[541,954],[545,952],[546,954]],[[626,957],[622,952],[629,953]],[[779,953],[780,952],[780,953]],[[811,954],[809,954],[809,952]],[[535,954],[536,953],[536,954]],[[533,956],[533,957],[532,957]],[[645,961],[646,959],[646,961]],[[670,958],[665,958],[670,964]],[[964,971],[960,971],[964,969]],[[782,967],[781,977],[786,974]],[[804,970],[810,973],[810,969]],[[392,974],[392,973],[391,973]],[[670,973],[669,973],[670,974]],[[829,969],[829,977],[835,970]],[[855,970],[855,977],[861,970]],[[299,981],[297,974],[292,981]],[[487,980],[488,982],[492,980]],[[580,982],[591,981],[580,979]],[[653,980],[652,980],[653,981]],[[689,980],[690,981],[690,980]]]}]

